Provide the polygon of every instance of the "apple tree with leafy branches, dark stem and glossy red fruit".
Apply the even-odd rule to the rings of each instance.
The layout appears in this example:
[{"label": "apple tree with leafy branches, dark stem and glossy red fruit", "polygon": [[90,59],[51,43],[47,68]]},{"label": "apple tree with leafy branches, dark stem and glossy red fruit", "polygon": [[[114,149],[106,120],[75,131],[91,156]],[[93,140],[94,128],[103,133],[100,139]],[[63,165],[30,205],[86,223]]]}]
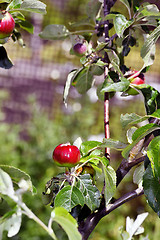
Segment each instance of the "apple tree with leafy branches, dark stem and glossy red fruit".
[{"label": "apple tree with leafy branches, dark stem and glossy red fruit", "polygon": [[[8,236],[19,231],[21,215],[25,213],[53,239],[57,239],[52,229],[52,222],[55,221],[70,240],[86,240],[103,217],[143,194],[146,204],[160,217],[160,93],[146,84],[145,79],[145,73],[155,59],[155,46],[160,36],[160,11],[155,4],[146,1],[140,4],[140,1],[119,0],[126,8],[124,15],[114,11],[117,1],[86,1],[85,19],[70,24],[68,28],[51,24],[40,33],[43,39],[70,39],[70,53],[80,58],[81,67],[68,74],[64,104],[67,107],[71,87],[74,86],[83,97],[93,85],[96,86],[97,96],[101,100],[99,104],[104,105],[104,139],[101,142],[96,139],[83,142],[79,137],[72,145],[67,143],[67,149],[65,144],[59,145],[58,150],[53,149],[55,163],[58,162],[63,168],[61,174],[48,180],[42,194],[43,203],[52,207],[48,226],[22,200],[25,191],[35,191],[29,175],[15,167],[1,166],[1,197],[7,196],[16,203],[16,208],[2,217],[1,226],[8,230]],[[7,10],[12,7],[16,14],[21,7],[31,3],[29,0],[18,1],[18,4],[17,1],[8,2]],[[38,6],[39,1],[35,2]],[[29,9],[32,9],[31,6]],[[139,34],[144,37],[143,43],[137,38]],[[130,69],[125,59],[138,43],[141,45],[143,65],[134,70]],[[101,76],[101,81],[96,81],[97,76]],[[143,116],[136,113],[121,115],[122,127],[124,131],[127,129],[126,143],[110,136],[110,99],[117,92],[121,93],[122,99],[141,94],[146,109]],[[79,149],[80,159],[79,155],[76,158],[73,146]],[[117,169],[112,167],[110,149],[121,152],[122,159]],[[133,167],[136,188],[115,198],[117,187]],[[102,186],[99,184],[100,178],[103,179]],[[128,227],[122,233],[122,239],[131,239],[138,231],[141,233],[139,227],[146,216],[144,213],[137,217],[134,229],[128,218]],[[13,221],[18,225],[14,228],[16,232],[13,231]]]}]

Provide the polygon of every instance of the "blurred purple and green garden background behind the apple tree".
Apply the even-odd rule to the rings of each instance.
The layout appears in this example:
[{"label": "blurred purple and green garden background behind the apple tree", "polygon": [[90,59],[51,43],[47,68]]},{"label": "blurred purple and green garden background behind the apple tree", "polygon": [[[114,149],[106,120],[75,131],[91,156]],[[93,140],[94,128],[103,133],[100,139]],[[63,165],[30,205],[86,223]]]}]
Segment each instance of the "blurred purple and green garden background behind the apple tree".
[{"label": "blurred purple and green garden background behind the apple tree", "polygon": [[[63,104],[63,88],[68,73],[80,66],[79,58],[70,55],[71,43],[65,41],[42,40],[38,34],[48,24],[64,24],[75,22],[85,17],[86,0],[43,0],[47,5],[47,14],[28,15],[35,31],[33,35],[22,32],[25,48],[17,43],[8,42],[5,47],[14,63],[10,70],[0,69],[0,156],[1,164],[13,165],[27,172],[37,189],[37,195],[26,194],[26,204],[46,224],[51,209],[44,206],[42,192],[45,184],[61,169],[52,161],[52,151],[60,143],[71,142],[81,137],[86,140],[102,140],[103,102],[98,100],[94,87],[85,95],[80,95],[71,88],[68,108]],[[150,1],[157,4],[158,1]],[[123,5],[117,1],[115,10]],[[141,36],[139,36],[141,38]],[[143,62],[140,58],[140,46],[133,48],[126,58],[126,64],[139,70]],[[160,48],[157,45],[156,59],[146,74],[146,83],[160,90],[159,68]],[[103,76],[102,76],[103,77]],[[141,96],[122,98],[116,95],[110,102],[111,138],[126,142],[125,131],[120,124],[122,113],[136,112],[145,114]],[[112,165],[116,169],[122,157],[112,151]],[[133,171],[124,182],[132,181]],[[121,184],[119,195],[135,189],[132,184]],[[9,206],[0,205],[3,213]],[[160,221],[157,215],[146,206],[144,196],[132,200],[105,217],[92,233],[91,240],[117,240],[120,238],[121,226],[125,226],[125,218],[136,218],[139,213],[149,211],[145,220],[144,236],[149,239],[160,239]],[[104,227],[105,226],[105,227]],[[65,240],[62,229],[54,226],[60,240]],[[4,235],[4,240],[7,235]],[[13,240],[49,240],[39,226],[32,220],[23,217],[20,233]],[[135,238],[135,239],[138,239]]]}]

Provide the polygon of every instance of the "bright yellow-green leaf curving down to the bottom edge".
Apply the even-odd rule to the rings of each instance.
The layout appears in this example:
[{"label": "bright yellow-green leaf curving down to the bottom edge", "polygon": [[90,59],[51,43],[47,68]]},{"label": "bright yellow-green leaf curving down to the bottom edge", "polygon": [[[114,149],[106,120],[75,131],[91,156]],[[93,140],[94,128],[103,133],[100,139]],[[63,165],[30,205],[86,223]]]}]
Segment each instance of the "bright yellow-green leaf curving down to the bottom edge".
[{"label": "bright yellow-green leaf curving down to the bottom edge", "polygon": [[51,212],[51,218],[57,222],[68,235],[69,240],[81,240],[76,220],[62,207],[57,207]]}]

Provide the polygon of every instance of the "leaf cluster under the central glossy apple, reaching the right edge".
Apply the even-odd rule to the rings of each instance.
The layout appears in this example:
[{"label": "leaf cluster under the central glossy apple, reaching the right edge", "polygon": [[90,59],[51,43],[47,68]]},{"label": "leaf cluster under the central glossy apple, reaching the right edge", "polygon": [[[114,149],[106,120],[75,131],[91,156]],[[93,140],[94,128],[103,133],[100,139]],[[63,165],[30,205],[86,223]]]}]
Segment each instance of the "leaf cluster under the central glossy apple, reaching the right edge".
[{"label": "leaf cluster under the central glossy apple, reaching the right edge", "polygon": [[[43,193],[44,203],[50,203],[52,207],[64,207],[69,212],[72,212],[75,206],[78,205],[81,206],[80,209],[83,211],[83,207],[86,205],[93,212],[100,207],[100,200],[104,197],[107,207],[116,192],[117,186],[116,172],[110,166],[109,160],[104,157],[103,149],[109,147],[122,151],[123,158],[128,162],[133,162],[139,157],[143,157],[143,159],[149,158],[151,165],[146,165],[147,169],[145,172],[144,169],[142,171],[141,168],[137,168],[136,171],[139,172],[140,179],[134,180],[134,182],[139,185],[144,174],[143,186],[146,197],[150,199],[150,205],[159,215],[160,203],[156,189],[159,188],[160,173],[158,160],[160,137],[154,137],[147,149],[144,142],[148,139],[148,136],[156,133],[156,131],[159,132],[160,126],[156,123],[148,123],[139,128],[133,126],[151,118],[160,120],[160,109],[155,109],[155,112],[145,116],[139,116],[135,113],[121,115],[123,127],[132,125],[127,131],[128,144],[111,138],[103,139],[103,142],[83,142],[80,145],[82,156],[80,164],[72,168],[70,172],[53,177],[46,184],[46,189]],[[105,188],[100,191],[96,187],[97,183],[95,179],[97,178],[95,176],[99,176],[100,174],[102,178],[102,172]],[[150,194],[151,188],[155,191],[152,195]],[[157,205],[153,207],[155,206],[155,202]],[[80,213],[80,209],[77,214]]]}]

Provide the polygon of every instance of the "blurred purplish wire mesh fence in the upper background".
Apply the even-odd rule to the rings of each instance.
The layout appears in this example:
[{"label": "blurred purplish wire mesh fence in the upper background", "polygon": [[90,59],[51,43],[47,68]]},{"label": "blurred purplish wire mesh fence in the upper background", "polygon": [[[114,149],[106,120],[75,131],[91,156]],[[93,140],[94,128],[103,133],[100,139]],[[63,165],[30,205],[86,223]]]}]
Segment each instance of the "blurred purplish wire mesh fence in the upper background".
[{"label": "blurred purplish wire mesh fence in the upper background", "polygon": [[[78,59],[69,55],[70,43],[65,41],[46,41],[39,37],[45,25],[65,24],[82,18],[85,12],[85,0],[46,0],[47,15],[32,14],[30,20],[34,25],[34,34],[22,33],[26,44],[21,48],[17,43],[5,45],[14,67],[0,69],[0,88],[8,90],[10,98],[5,101],[3,109],[5,121],[23,122],[27,119],[27,99],[30,94],[45,107],[52,107],[56,89],[62,95],[67,74],[78,64]],[[159,48],[157,49],[159,52]],[[156,55],[155,64],[151,67],[148,82],[159,83],[160,54]],[[127,57],[127,66],[139,69],[142,64],[139,52],[133,51]],[[62,97],[62,96],[61,96]]]}]

